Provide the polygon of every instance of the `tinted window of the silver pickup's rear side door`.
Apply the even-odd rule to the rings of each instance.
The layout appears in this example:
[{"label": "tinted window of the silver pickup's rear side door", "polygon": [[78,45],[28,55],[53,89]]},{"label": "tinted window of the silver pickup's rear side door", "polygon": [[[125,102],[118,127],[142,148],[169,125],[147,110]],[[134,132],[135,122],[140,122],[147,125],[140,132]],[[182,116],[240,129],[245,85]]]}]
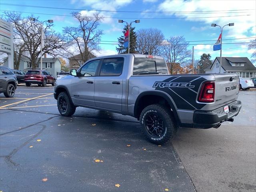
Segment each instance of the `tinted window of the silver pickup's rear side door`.
[{"label": "tinted window of the silver pickup's rear side door", "polygon": [[107,58],[102,62],[100,76],[120,76],[123,71],[124,58]]}]

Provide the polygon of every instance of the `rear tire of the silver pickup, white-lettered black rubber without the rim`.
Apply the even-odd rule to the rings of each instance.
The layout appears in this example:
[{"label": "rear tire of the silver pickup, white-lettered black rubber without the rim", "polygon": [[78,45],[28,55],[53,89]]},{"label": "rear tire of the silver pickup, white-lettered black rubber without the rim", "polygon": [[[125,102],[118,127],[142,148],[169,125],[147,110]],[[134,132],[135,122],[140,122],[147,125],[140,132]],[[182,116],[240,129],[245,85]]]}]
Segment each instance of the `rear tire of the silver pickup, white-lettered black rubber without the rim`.
[{"label": "rear tire of the silver pickup, white-lettered black rubber without the rim", "polygon": [[[157,114],[164,122],[165,129],[164,129],[164,134],[161,137],[154,137],[148,132],[148,128],[145,122],[146,122],[146,117],[150,113]],[[141,124],[140,130],[144,134],[144,136],[146,136],[146,138],[150,142],[158,145],[164,144],[172,140],[172,138],[174,138],[178,130],[178,126],[171,109],[160,104],[152,104],[144,108],[140,114],[140,124]]]}]

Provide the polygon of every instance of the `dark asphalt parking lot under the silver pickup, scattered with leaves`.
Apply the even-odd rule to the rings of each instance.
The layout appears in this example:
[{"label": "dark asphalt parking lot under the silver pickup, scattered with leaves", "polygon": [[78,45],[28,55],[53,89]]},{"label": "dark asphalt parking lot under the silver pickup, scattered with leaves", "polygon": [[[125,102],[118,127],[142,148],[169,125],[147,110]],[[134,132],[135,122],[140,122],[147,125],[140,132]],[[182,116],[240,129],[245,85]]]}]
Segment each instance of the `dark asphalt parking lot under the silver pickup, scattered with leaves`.
[{"label": "dark asphalt parking lot under the silver pickup, scattered with leaves", "polygon": [[60,116],[53,90],[0,94],[0,191],[256,190],[256,90],[240,91],[234,122],[180,128],[162,146],[130,116],[86,108]]}]

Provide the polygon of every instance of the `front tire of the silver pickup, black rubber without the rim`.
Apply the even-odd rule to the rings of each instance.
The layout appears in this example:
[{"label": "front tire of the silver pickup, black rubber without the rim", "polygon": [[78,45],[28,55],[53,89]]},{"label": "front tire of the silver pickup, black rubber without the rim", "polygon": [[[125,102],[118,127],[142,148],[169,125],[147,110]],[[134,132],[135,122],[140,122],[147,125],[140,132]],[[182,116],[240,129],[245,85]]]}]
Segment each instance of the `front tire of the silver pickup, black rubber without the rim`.
[{"label": "front tire of the silver pickup, black rubber without the rim", "polygon": [[[60,106],[61,100],[65,100],[65,102],[66,102],[66,110],[65,111],[62,110],[62,108]],[[74,104],[72,104],[72,101],[70,100],[70,98],[68,97],[68,94],[66,92],[61,92],[58,95],[57,106],[58,106],[58,110],[62,116],[72,116],[76,111],[76,107],[74,106]]]}]

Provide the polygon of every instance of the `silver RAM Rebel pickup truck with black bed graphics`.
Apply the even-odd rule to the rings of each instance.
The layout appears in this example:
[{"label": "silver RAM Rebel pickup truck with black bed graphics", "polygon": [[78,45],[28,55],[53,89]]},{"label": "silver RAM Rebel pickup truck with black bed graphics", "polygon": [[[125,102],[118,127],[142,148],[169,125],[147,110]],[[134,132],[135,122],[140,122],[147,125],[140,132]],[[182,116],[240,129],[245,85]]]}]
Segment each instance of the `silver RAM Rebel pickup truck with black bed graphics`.
[{"label": "silver RAM Rebel pickup truck with black bed graphics", "polygon": [[178,127],[218,128],[233,122],[242,107],[238,74],[169,75],[160,56],[92,58],[70,74],[54,89],[62,116],[73,115],[78,106],[130,115],[155,144],[172,139]]}]

